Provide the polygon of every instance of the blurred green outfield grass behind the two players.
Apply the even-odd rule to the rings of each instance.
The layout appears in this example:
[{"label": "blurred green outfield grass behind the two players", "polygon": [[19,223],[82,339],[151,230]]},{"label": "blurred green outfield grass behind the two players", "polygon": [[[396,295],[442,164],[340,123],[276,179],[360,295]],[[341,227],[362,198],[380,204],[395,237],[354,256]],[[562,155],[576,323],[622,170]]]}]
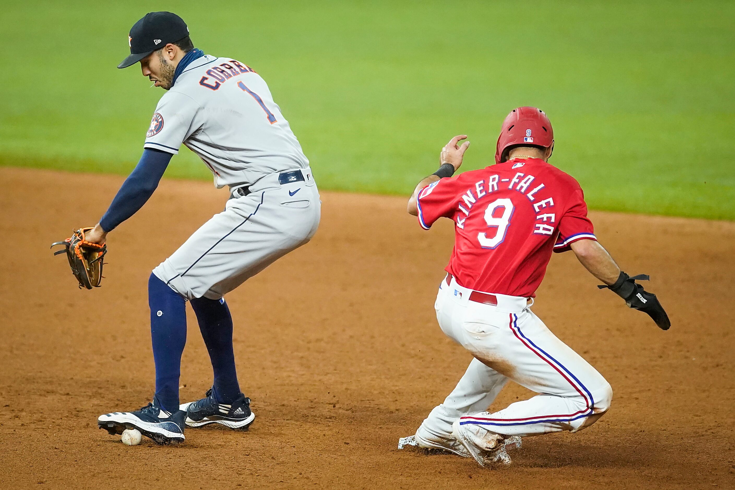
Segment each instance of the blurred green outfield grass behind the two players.
[{"label": "blurred green outfield grass behind the two players", "polygon": [[[454,134],[484,167],[506,113],[535,105],[592,208],[735,219],[731,1],[15,2],[0,164],[129,172],[163,92],[115,66],[167,8],[266,79],[323,189],[410,192]],[[210,179],[187,150],[167,175]]]}]

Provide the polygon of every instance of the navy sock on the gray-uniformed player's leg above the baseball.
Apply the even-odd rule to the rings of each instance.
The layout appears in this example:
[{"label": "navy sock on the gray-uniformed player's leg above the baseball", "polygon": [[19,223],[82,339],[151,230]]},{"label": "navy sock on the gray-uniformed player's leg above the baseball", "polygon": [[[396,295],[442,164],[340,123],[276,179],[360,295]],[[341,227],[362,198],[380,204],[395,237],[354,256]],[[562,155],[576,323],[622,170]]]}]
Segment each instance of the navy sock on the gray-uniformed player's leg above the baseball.
[{"label": "navy sock on the gray-uniformed player's leg above the baseball", "polygon": [[148,279],[151,339],[156,363],[156,401],[165,411],[179,410],[179,376],[186,345],[186,301],[151,273]]}]

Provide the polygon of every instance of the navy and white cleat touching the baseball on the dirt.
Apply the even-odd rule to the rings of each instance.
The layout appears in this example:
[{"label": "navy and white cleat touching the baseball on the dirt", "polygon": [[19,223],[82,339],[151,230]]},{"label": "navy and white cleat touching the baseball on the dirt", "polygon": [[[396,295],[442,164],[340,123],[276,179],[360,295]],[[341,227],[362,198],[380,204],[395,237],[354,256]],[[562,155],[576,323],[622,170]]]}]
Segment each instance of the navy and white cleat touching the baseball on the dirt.
[{"label": "navy and white cleat touching the baseball on the dirt", "polygon": [[125,429],[135,428],[143,436],[153,439],[156,444],[178,444],[184,442],[185,419],[185,411],[179,410],[172,414],[148,403],[138,411],[115,411],[100,415],[97,426],[106,429],[110,434],[121,434]]}]

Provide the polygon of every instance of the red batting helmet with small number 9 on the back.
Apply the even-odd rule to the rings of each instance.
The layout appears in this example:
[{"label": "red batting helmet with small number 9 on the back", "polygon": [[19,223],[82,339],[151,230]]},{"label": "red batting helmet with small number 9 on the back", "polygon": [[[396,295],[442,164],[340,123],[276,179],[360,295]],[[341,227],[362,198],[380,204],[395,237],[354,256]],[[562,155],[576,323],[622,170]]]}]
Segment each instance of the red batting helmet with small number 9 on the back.
[{"label": "red batting helmet with small number 9 on the back", "polygon": [[501,135],[498,137],[498,148],[495,150],[495,163],[508,159],[511,146],[553,145],[553,129],[545,112],[537,107],[518,107],[513,109],[503,120]]}]

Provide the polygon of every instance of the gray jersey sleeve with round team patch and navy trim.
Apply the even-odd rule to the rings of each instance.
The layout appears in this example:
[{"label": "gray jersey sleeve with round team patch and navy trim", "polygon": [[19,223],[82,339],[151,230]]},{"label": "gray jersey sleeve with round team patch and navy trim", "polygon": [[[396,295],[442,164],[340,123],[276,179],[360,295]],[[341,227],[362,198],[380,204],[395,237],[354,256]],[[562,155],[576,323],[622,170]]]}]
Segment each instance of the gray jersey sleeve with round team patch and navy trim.
[{"label": "gray jersey sleeve with round team patch and navy trim", "polygon": [[179,153],[184,140],[198,129],[195,120],[199,109],[199,104],[183,93],[166,93],[158,101],[143,148]]}]

